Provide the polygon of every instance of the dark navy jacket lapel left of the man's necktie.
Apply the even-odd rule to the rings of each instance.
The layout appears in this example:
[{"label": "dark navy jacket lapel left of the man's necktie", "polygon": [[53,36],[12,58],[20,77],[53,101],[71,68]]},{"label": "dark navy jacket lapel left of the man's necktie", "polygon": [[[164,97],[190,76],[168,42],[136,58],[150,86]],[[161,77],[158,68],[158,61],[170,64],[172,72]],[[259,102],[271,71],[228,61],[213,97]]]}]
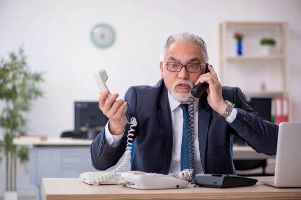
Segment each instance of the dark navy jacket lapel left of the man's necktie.
[{"label": "dark navy jacket lapel left of the man's necktie", "polygon": [[[168,100],[168,90],[165,85],[162,86],[158,97],[158,106],[159,109],[157,111],[160,125],[162,127],[165,142],[168,150],[169,157],[169,167],[172,160],[172,152],[173,152],[173,128],[172,128],[172,117],[171,117],[171,108]],[[167,169],[167,173],[169,170]]]}]

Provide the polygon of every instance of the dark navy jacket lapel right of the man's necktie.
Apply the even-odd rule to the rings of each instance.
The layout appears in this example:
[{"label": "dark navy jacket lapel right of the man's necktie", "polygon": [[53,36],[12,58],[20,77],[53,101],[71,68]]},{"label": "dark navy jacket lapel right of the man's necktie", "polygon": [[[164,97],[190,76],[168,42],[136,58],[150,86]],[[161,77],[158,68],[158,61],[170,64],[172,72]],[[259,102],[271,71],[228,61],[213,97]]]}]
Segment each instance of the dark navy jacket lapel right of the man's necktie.
[{"label": "dark navy jacket lapel right of the man's necktie", "polygon": [[211,116],[210,105],[207,101],[207,92],[205,92],[199,101],[199,125],[198,125],[198,133],[199,133],[199,148],[201,155],[202,167],[205,171],[205,155],[206,155],[206,145],[207,145],[207,135],[208,135],[208,127]]}]

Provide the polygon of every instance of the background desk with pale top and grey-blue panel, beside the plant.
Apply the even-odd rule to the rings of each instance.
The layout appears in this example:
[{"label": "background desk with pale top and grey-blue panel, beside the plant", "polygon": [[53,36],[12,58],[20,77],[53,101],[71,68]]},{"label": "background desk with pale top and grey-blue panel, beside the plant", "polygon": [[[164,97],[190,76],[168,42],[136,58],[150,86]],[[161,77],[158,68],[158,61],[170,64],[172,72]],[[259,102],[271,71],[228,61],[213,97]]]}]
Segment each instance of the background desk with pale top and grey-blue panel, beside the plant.
[{"label": "background desk with pale top and grey-blue panel, beside the plant", "polygon": [[[86,171],[97,171],[91,163],[90,146],[93,140],[47,138],[14,138],[16,145],[30,146],[30,183],[36,186],[36,200],[40,200],[42,178],[78,178]],[[117,163],[121,164],[123,157]],[[116,166],[105,171],[110,171]],[[129,171],[130,165],[124,171]]]}]

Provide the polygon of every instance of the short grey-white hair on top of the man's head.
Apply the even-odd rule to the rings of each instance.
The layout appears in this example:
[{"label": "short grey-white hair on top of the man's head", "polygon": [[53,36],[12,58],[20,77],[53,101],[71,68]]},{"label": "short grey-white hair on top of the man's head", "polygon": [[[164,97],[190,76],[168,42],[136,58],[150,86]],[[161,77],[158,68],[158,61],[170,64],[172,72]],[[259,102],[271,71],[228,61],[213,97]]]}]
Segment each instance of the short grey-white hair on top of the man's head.
[{"label": "short grey-white hair on top of the man's head", "polygon": [[191,33],[188,33],[188,32],[174,34],[174,35],[171,35],[168,37],[168,39],[166,40],[166,43],[163,47],[163,51],[161,53],[161,61],[164,61],[166,51],[174,41],[189,42],[192,44],[199,45],[201,47],[203,58],[204,58],[205,62],[208,62],[209,57],[208,57],[207,46],[206,46],[205,41],[201,37],[191,34]]}]

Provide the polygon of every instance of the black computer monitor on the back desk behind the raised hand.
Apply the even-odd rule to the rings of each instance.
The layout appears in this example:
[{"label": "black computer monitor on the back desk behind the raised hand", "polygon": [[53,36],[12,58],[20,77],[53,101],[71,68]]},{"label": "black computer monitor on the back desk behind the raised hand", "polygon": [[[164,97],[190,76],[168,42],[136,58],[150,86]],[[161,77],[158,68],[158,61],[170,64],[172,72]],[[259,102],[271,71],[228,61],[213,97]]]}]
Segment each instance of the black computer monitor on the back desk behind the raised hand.
[{"label": "black computer monitor on the back desk behind the raised hand", "polygon": [[75,101],[74,110],[75,131],[83,129],[84,131],[88,129],[99,131],[109,120],[99,109],[98,101]]}]

